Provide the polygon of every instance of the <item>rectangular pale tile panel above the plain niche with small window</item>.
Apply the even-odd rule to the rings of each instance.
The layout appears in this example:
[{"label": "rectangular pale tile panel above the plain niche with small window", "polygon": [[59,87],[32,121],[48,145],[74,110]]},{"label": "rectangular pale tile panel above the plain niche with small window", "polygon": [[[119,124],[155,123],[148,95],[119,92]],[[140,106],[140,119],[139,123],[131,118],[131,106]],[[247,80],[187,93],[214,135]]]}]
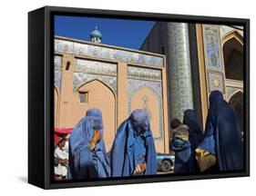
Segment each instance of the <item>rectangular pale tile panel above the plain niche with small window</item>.
[{"label": "rectangular pale tile panel above the plain niche with small window", "polygon": [[74,72],[117,75],[117,64],[85,59],[75,59]]}]

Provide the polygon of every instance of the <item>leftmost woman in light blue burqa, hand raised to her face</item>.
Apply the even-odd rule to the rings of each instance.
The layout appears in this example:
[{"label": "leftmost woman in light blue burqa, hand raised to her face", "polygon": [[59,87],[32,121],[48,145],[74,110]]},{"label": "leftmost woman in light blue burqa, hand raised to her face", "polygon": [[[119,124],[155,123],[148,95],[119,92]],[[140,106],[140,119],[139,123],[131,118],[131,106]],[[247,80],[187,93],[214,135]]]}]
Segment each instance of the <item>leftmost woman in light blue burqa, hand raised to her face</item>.
[{"label": "leftmost woman in light blue burqa, hand raised to her face", "polygon": [[72,180],[110,176],[102,113],[96,108],[87,111],[70,135],[69,170]]}]

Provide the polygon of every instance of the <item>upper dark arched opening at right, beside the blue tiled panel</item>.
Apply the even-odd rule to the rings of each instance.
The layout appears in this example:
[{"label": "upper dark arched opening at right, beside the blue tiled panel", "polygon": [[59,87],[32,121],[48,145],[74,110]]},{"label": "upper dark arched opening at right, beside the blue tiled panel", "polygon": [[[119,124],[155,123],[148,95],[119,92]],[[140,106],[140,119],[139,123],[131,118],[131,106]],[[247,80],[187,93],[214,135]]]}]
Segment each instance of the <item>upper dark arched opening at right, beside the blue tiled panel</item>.
[{"label": "upper dark arched opening at right, beside the blue tiled panel", "polygon": [[226,35],[223,44],[223,57],[227,79],[243,80],[243,45],[237,32]]}]

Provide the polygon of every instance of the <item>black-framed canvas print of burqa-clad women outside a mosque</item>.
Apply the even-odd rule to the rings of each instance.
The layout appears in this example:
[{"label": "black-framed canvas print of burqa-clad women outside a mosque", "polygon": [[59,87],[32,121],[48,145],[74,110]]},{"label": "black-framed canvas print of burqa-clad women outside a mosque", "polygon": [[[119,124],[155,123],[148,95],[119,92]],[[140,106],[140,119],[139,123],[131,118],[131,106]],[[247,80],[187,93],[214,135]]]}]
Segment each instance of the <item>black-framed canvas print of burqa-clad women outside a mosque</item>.
[{"label": "black-framed canvas print of burqa-clad women outside a mosque", "polygon": [[28,14],[28,182],[250,175],[250,21],[46,6]]}]

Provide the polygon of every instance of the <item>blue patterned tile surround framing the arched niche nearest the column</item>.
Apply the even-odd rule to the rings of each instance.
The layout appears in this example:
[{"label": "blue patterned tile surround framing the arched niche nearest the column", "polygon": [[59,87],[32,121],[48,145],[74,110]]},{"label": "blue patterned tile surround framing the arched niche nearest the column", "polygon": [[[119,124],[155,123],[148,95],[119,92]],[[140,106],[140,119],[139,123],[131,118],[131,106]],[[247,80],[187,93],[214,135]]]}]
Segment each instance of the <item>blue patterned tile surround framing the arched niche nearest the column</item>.
[{"label": "blue patterned tile surround framing the arched niche nearest the column", "polygon": [[163,109],[162,109],[162,84],[160,82],[142,81],[128,79],[128,115],[131,111],[131,100],[139,90],[147,88],[154,93],[158,99],[159,104],[159,136],[154,136],[155,140],[163,139]]}]

